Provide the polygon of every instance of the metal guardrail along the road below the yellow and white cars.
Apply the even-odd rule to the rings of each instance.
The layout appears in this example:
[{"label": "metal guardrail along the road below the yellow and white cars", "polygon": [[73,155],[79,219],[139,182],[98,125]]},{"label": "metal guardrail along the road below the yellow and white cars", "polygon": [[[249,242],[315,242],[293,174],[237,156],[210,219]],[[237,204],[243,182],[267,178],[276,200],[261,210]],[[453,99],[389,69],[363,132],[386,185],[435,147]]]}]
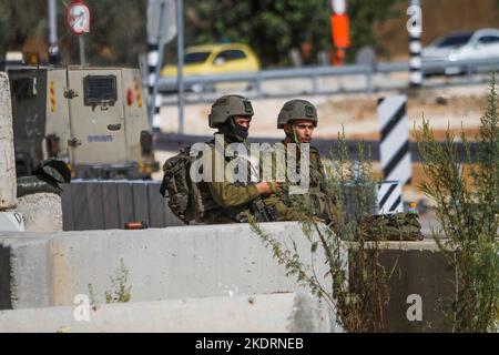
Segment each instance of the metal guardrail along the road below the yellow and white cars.
[{"label": "metal guardrail along the road below the yellow and white cars", "polygon": [[[486,59],[486,60],[469,60],[469,61],[427,61],[422,63],[424,73],[446,73],[446,71],[457,71],[466,74],[464,80],[447,81],[444,84],[428,80],[424,83],[424,87],[436,88],[442,85],[461,85],[473,84],[487,81],[489,78],[477,78],[476,74],[499,70],[499,59]],[[197,91],[198,95],[187,98],[190,101],[210,101],[211,98],[205,98],[207,91],[213,90],[216,84],[228,82],[247,82],[251,84],[252,90],[248,90],[247,97],[251,99],[261,98],[286,98],[295,95],[296,92],[291,90],[282,92],[269,92],[263,89],[263,83],[276,80],[289,80],[289,79],[309,79],[312,81],[312,89],[305,90],[302,94],[320,95],[320,94],[335,94],[335,93],[373,93],[379,90],[400,90],[406,89],[408,82],[391,84],[388,80],[381,80],[379,83],[375,83],[375,77],[380,74],[391,74],[399,72],[408,72],[408,62],[394,62],[394,63],[377,63],[374,65],[367,64],[354,64],[342,68],[336,67],[306,67],[296,69],[274,69],[262,70],[258,72],[241,72],[232,74],[221,75],[192,75],[184,78],[184,84],[187,90]],[[345,87],[338,87],[336,89],[320,88],[319,79],[324,78],[338,78],[348,75],[364,77],[364,85],[361,88],[348,89]],[[160,79],[161,92],[176,92],[176,78],[161,78]],[[198,87],[198,88],[196,88]],[[197,89],[197,90],[196,90]],[[200,90],[201,89],[201,90]],[[175,102],[166,102],[172,104]]]}]

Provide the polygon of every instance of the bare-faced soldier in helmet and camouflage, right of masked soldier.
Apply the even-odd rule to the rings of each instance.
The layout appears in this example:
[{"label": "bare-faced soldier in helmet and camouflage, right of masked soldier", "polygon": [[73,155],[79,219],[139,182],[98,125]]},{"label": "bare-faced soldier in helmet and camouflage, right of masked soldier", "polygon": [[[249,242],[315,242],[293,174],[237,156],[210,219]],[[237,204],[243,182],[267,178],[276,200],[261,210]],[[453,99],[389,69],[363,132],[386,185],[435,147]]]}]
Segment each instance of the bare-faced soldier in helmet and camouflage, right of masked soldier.
[{"label": "bare-faced soldier in helmet and camouflage, right of masked soldier", "polygon": [[[317,109],[305,100],[293,100],[284,104],[277,118],[277,129],[284,130],[286,136],[284,145],[297,144],[296,156],[287,156],[296,160],[296,166],[301,164],[299,148],[302,144],[310,144],[314,130],[318,125]],[[287,150],[289,154],[289,150]],[[287,166],[286,166],[287,168]],[[324,221],[330,220],[332,199],[327,191],[324,165],[316,148],[309,145],[309,189],[306,196],[298,196],[299,201],[309,201],[309,211],[315,217]],[[287,169],[286,169],[287,172]],[[283,191],[271,194],[265,202],[274,205],[277,210],[279,221],[296,221],[303,215],[293,203],[293,197],[287,194],[288,183],[283,185]],[[307,199],[302,199],[307,197]]]}]

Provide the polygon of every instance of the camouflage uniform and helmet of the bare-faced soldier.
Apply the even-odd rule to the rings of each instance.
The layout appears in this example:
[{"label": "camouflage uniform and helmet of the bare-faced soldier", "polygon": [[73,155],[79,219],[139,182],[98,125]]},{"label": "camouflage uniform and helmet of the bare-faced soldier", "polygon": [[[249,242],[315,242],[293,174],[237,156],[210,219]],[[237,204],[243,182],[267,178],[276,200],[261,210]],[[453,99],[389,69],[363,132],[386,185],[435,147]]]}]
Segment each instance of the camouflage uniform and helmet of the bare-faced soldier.
[{"label": "camouflage uniform and helmet of the bare-faced soldier", "polygon": [[[293,123],[293,121],[297,120],[309,120],[315,124],[315,126],[317,126],[318,116],[316,108],[312,103],[303,100],[294,100],[286,103],[279,113],[277,128],[284,129],[285,124]],[[299,148],[297,148],[296,156],[291,159],[294,159],[296,161],[297,173],[299,174]],[[298,221],[303,217],[308,216],[307,212],[308,214],[312,213],[313,216],[319,217],[324,221],[330,220],[330,209],[333,206],[333,201],[327,191],[323,162],[317,149],[314,146],[310,146],[309,149],[308,168],[309,189],[305,195],[289,195],[289,181],[287,179],[287,174],[284,174],[286,176],[286,182],[283,184],[282,191],[279,193],[273,193],[265,199],[265,203],[267,205],[275,206],[278,221]],[[273,173],[275,172],[276,164],[274,160]]]}]

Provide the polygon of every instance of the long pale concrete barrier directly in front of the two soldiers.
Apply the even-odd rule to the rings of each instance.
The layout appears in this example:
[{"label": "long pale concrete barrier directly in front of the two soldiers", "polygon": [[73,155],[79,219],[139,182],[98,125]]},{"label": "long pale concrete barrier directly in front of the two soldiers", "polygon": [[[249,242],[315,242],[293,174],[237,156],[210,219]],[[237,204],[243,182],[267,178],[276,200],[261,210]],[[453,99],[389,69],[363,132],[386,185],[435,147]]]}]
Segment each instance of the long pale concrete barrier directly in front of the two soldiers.
[{"label": "long pale concrete barrier directly in front of the two soldiers", "polygon": [[[309,243],[295,223],[264,225],[294,239],[309,258]],[[288,241],[289,243],[289,241]],[[68,306],[90,294],[103,303],[129,272],[132,302],[295,292],[294,280],[248,225],[184,226],[146,231],[45,234],[0,233],[0,280],[9,280],[0,308]],[[8,258],[6,261],[6,257]],[[316,261],[318,275],[326,273]],[[0,285],[6,287],[4,284]],[[7,296],[7,298],[6,298]]]}]

